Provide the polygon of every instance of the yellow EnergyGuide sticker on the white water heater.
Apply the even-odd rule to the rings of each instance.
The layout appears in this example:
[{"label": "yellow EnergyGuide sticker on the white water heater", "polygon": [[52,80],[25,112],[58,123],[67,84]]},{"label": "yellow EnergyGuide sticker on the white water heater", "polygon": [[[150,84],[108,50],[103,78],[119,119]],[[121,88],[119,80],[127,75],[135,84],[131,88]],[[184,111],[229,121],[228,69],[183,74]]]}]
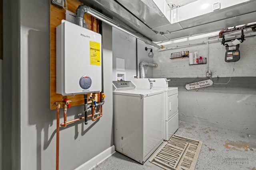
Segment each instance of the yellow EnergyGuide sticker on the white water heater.
[{"label": "yellow EnergyGuide sticker on the white water heater", "polygon": [[100,66],[100,43],[90,41],[90,65]]}]

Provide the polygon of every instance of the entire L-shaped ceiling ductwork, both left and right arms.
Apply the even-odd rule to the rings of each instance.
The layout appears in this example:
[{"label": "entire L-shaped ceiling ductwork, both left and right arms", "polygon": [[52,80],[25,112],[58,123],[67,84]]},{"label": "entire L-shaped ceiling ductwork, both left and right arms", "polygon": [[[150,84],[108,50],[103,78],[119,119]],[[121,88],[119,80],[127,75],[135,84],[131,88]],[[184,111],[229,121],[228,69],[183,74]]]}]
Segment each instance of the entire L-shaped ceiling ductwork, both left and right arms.
[{"label": "entire L-shaped ceiling ductwork, both left and right arms", "polygon": [[152,41],[168,41],[256,21],[256,0],[218,0],[218,10],[213,10],[216,0],[197,0],[175,9],[170,9],[166,0],[79,1]]}]

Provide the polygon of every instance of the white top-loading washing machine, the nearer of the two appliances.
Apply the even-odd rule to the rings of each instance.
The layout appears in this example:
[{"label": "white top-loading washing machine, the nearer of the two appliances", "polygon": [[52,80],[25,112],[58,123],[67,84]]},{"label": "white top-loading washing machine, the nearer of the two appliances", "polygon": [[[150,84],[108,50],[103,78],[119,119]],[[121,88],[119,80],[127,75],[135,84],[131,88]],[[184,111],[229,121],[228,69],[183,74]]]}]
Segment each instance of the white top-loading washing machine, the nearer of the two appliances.
[{"label": "white top-loading washing machine, the nearer of the two appliances", "polygon": [[130,81],[113,81],[115,149],[144,164],[161,145],[161,90],[140,90]]}]

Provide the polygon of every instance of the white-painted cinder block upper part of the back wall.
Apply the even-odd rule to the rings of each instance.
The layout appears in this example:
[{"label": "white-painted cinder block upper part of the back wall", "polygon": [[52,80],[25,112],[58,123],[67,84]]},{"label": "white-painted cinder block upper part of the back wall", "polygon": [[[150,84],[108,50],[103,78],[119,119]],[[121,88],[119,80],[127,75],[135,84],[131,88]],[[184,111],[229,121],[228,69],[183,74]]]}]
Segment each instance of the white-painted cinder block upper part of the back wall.
[{"label": "white-painted cinder block upper part of the back wall", "polygon": [[[174,47],[175,45],[188,44],[207,39],[197,39],[193,41],[186,41],[182,43],[172,43],[165,45],[165,47]],[[225,46],[220,42],[209,43],[208,47],[208,69],[212,71],[212,77],[229,77],[231,73],[233,77],[256,76],[256,37],[246,37],[246,41],[240,44],[240,60],[236,63],[226,63]],[[171,60],[171,53],[179,51],[198,51],[198,57],[207,57],[207,45],[197,45],[192,47],[184,47],[173,50],[158,51],[154,50],[154,63],[158,64],[157,68],[153,68],[154,77],[168,77],[168,78],[186,78],[186,77],[206,77],[207,64],[202,65],[188,65],[189,59],[175,59]],[[182,71],[181,71],[182,70]]]}]

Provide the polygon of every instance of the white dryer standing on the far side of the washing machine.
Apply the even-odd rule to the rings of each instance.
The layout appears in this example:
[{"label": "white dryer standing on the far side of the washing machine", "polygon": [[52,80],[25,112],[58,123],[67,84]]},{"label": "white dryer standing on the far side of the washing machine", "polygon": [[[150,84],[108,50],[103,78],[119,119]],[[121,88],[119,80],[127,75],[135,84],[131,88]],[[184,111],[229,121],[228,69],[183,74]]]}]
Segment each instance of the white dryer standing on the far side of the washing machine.
[{"label": "white dryer standing on the far side of the washing machine", "polygon": [[168,141],[179,128],[178,88],[168,87],[166,78],[150,78],[154,90],[164,91],[163,138]]}]

